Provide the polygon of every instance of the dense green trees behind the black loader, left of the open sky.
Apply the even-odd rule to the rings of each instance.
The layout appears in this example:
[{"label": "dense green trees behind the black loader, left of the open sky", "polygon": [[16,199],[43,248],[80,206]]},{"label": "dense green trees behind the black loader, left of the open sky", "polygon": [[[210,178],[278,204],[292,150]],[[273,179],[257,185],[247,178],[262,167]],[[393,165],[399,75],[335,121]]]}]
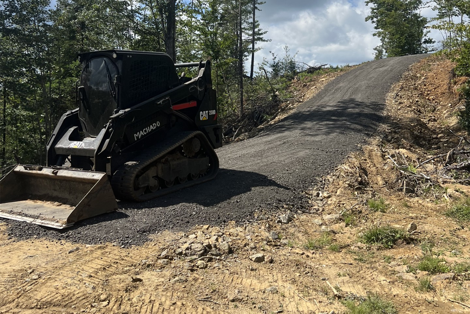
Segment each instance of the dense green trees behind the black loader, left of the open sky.
[{"label": "dense green trees behind the black loader, left of the open sky", "polygon": [[[250,80],[251,87],[240,94],[243,64],[266,41],[266,31],[253,16],[263,3],[57,0],[50,8],[50,0],[3,1],[0,101],[6,108],[0,115],[6,122],[1,130],[6,140],[0,142],[0,166],[45,163],[46,143],[56,123],[66,110],[76,107],[75,82],[81,70],[77,54],[81,52],[117,48],[172,55],[169,49],[175,45],[175,62],[211,59],[222,122],[238,115],[241,97],[257,107],[254,110],[262,108],[264,103],[253,101],[254,93],[263,90],[269,99],[284,89],[286,81],[274,82],[270,88],[262,77]],[[235,27],[240,22],[241,32]],[[276,95],[274,104],[282,97],[282,92]],[[266,118],[266,113],[259,116]]]}]

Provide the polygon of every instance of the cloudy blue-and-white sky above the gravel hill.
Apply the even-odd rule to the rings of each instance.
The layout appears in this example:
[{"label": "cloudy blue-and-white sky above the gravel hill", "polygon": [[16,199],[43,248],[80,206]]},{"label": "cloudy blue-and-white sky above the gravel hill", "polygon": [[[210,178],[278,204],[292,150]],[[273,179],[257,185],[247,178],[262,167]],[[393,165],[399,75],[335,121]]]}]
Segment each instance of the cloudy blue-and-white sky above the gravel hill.
[{"label": "cloudy blue-and-white sky above the gravel hill", "polygon": [[[310,65],[352,65],[374,59],[380,41],[372,35],[374,25],[364,21],[370,12],[364,0],[265,1],[257,19],[271,41],[259,44],[263,49],[256,53],[255,64],[263,58],[272,61],[270,51],[281,57],[286,45],[290,55],[297,53],[297,61]],[[430,8],[421,14],[435,16]],[[430,36],[442,39],[438,31]]]}]

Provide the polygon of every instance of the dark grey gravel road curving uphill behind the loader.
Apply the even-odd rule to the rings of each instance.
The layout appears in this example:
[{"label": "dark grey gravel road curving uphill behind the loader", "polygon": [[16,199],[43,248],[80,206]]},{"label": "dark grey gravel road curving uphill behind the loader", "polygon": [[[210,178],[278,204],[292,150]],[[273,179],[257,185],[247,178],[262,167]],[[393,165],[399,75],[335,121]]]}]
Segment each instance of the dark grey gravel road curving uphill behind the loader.
[{"label": "dark grey gravel road curving uphill behind the loader", "polygon": [[129,246],[164,229],[196,224],[244,223],[258,212],[298,205],[301,192],[318,184],[383,122],[390,86],[427,55],[373,61],[331,81],[282,122],[258,136],[217,149],[216,179],[144,203],[119,202],[117,212],[55,230],[3,220],[18,239],[44,236],[78,243]]}]

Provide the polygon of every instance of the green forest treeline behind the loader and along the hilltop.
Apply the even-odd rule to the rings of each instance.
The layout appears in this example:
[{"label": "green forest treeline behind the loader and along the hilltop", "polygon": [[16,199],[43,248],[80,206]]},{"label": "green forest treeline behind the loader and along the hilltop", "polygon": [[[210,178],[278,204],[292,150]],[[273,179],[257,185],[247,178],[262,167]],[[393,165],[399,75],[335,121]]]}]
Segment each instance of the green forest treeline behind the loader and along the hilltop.
[{"label": "green forest treeline behind the loader and along the hilltop", "polygon": [[[419,8],[431,4],[366,3],[372,8],[368,20],[381,40],[376,58],[427,51],[429,21]],[[438,12],[433,27],[446,34],[442,48],[458,62],[457,72],[468,75],[469,0],[432,3]],[[273,54],[255,68],[254,55],[269,40],[257,20],[263,5],[269,3],[56,0],[51,7],[50,0],[0,0],[0,166],[44,164],[58,119],[77,107],[77,54],[91,50],[163,51],[175,63],[211,59],[222,121],[262,123],[269,108],[289,98],[285,87],[305,65],[285,47],[284,55]]]}]

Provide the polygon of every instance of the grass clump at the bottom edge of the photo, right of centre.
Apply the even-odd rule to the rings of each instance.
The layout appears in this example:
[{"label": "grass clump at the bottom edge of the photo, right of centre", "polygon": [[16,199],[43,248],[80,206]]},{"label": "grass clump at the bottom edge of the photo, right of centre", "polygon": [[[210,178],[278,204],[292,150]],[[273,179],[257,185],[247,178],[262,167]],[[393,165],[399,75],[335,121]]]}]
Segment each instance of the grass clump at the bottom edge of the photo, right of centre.
[{"label": "grass clump at the bottom edge of the photo, right of centre", "polygon": [[391,301],[382,299],[378,294],[369,294],[365,300],[345,300],[343,304],[349,314],[396,314],[398,313]]}]

